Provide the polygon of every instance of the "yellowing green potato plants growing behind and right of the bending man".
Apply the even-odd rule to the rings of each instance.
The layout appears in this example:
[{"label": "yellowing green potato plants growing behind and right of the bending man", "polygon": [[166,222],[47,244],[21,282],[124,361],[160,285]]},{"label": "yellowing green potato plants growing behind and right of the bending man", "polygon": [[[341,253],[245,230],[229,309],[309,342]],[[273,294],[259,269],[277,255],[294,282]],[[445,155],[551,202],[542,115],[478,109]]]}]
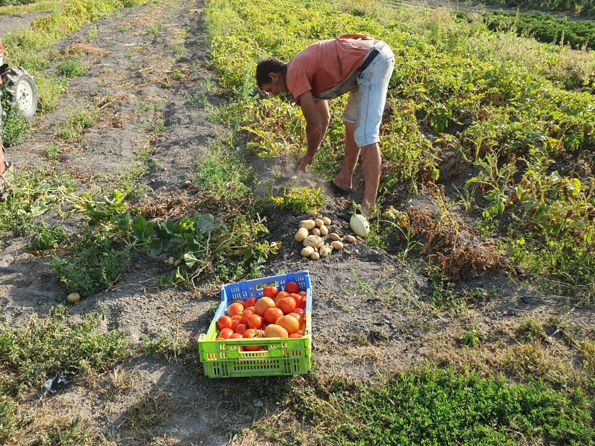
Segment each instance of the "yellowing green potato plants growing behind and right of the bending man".
[{"label": "yellowing green potato plants growing behind and right of the bending man", "polygon": [[[297,152],[304,144],[299,109],[277,98],[250,99],[258,59],[268,54],[289,60],[316,40],[370,34],[389,43],[397,58],[382,130],[389,165],[384,198],[390,199],[400,183],[415,189],[439,180],[441,152],[458,149],[477,171],[467,186],[479,186],[485,197],[484,218],[522,208],[521,230],[556,250],[546,269],[565,274],[580,265],[584,274],[591,271],[595,203],[587,167],[595,108],[590,93],[561,89],[520,63],[499,61],[489,47],[470,45],[464,33],[443,33],[438,26],[415,33],[387,18],[386,10],[340,12],[327,2],[279,1],[262,11],[243,0],[214,0],[207,12],[221,85],[243,101],[249,147],[257,153]],[[343,100],[331,103],[322,170],[341,155]],[[436,142],[424,133],[436,135]],[[587,158],[579,162],[583,169],[556,171],[556,159],[572,158]]]}]

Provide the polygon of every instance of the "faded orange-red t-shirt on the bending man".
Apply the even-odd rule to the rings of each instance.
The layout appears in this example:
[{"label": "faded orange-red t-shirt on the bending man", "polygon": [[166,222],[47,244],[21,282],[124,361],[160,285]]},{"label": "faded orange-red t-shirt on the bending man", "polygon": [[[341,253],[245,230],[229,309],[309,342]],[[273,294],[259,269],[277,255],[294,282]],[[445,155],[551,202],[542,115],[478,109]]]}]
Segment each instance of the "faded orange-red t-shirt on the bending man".
[{"label": "faded orange-red t-shirt on the bending man", "polygon": [[361,40],[372,40],[370,36],[345,34],[336,39],[312,43],[297,53],[287,65],[285,81],[287,89],[299,104],[299,96],[312,90],[312,95],[340,84],[353,70],[356,70],[369,49],[358,45]]}]

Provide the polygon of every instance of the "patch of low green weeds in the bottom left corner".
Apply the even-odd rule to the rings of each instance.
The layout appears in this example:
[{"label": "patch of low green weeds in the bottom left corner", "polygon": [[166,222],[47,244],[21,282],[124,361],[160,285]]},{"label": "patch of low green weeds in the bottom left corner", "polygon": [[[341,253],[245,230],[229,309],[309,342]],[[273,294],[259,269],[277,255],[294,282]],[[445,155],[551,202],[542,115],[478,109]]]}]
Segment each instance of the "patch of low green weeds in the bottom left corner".
[{"label": "patch of low green weeds in the bottom left corner", "polygon": [[[0,325],[0,441],[10,442],[32,420],[22,400],[56,373],[79,375],[105,372],[129,357],[131,348],[118,330],[99,332],[102,318],[88,313],[71,318],[64,306],[48,315],[30,316],[23,328]],[[79,444],[86,434],[70,426],[56,426],[36,436],[35,444]]]}]

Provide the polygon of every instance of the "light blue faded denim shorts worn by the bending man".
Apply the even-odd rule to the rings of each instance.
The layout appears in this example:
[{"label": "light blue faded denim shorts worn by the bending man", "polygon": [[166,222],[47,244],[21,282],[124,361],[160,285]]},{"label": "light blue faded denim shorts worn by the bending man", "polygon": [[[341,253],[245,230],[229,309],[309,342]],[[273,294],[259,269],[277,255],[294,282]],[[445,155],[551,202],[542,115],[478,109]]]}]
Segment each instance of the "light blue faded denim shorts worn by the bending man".
[{"label": "light blue faded denim shorts worn by the bending man", "polygon": [[349,93],[342,118],[346,123],[355,123],[358,147],[380,141],[380,121],[394,70],[394,54],[389,45],[378,41],[374,48],[380,53],[358,74],[358,89]]}]

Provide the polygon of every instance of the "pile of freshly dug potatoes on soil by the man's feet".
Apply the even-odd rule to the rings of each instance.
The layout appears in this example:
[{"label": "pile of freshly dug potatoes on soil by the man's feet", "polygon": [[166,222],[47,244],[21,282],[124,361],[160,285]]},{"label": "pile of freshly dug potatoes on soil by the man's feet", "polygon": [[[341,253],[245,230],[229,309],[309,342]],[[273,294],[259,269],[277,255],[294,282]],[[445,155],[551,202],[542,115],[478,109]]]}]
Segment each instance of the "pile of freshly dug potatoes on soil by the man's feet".
[{"label": "pile of freshly dug potatoes on soil by the man's feet", "polygon": [[[328,229],[331,225],[331,219],[323,217],[311,209],[306,211],[310,219],[299,222],[299,230],[295,235],[295,240],[303,244],[302,257],[309,257],[312,260],[318,260],[320,257],[329,257],[333,250],[340,251],[345,246],[337,233],[331,233]],[[330,243],[325,242],[325,237],[330,238]],[[353,243],[353,235],[345,235],[346,242]]]}]

